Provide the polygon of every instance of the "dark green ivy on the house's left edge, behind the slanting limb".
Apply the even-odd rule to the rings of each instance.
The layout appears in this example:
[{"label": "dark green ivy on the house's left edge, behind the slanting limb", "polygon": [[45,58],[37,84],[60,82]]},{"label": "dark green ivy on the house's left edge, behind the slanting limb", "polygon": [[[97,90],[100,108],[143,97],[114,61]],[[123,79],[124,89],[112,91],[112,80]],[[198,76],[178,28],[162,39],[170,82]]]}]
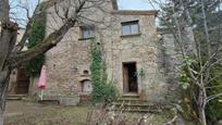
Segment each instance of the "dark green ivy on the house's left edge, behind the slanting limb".
[{"label": "dark green ivy on the house's left edge, behind the slanting limb", "polygon": [[[41,17],[34,18],[34,22],[32,24],[32,33],[28,37],[27,48],[36,47],[38,43],[40,43],[45,38],[45,29],[46,29],[46,12],[44,9],[44,3],[39,5],[39,9],[36,11],[40,12]],[[33,60],[26,62],[24,64],[25,70],[33,76],[39,75],[41,66],[45,62],[45,54],[41,53],[34,58]]]}]

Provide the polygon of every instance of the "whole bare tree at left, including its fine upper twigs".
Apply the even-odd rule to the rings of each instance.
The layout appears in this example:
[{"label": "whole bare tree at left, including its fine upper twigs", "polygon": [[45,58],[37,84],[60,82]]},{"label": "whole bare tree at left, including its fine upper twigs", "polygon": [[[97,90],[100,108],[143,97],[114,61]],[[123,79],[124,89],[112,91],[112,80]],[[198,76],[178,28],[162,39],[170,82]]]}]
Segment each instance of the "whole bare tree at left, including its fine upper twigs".
[{"label": "whole bare tree at left, including its fine upper twigs", "polygon": [[[65,3],[66,5],[61,5]],[[3,111],[5,105],[5,92],[9,85],[11,71],[22,63],[32,60],[40,53],[47,52],[49,49],[57,46],[63,39],[63,36],[70,28],[74,27],[79,22],[96,22],[96,20],[88,18],[86,12],[90,9],[97,9],[97,11],[106,12],[103,8],[100,8],[107,2],[106,0],[50,0],[45,2],[45,9],[54,7],[57,16],[62,21],[62,25],[53,29],[42,42],[39,42],[36,47],[22,51],[26,40],[30,35],[30,29],[35,18],[40,17],[38,11],[34,11],[30,16],[30,10],[24,5],[18,5],[27,12],[27,24],[25,26],[25,33],[16,43],[17,30],[20,29],[17,20],[11,15],[9,0],[0,1],[0,14],[1,14],[1,36],[0,36],[0,125],[3,125]],[[37,7],[40,4],[40,0],[37,1]],[[35,10],[36,10],[35,9]],[[61,13],[62,10],[62,13]],[[97,21],[99,22],[99,21]]]}]

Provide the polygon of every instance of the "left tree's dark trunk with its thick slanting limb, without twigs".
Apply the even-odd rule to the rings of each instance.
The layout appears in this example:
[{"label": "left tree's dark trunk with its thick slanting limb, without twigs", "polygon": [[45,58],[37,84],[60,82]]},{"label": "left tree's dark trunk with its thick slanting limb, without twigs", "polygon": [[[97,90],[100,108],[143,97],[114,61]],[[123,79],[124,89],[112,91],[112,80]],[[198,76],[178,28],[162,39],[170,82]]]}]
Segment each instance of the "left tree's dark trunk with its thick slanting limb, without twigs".
[{"label": "left tree's dark trunk with its thick slanting limb, without twigs", "polygon": [[[3,111],[5,107],[5,93],[9,85],[10,73],[21,63],[32,60],[40,53],[45,53],[64,37],[66,32],[73,27],[77,21],[78,13],[85,5],[86,0],[81,0],[75,13],[58,30],[49,35],[41,43],[27,51],[13,52],[16,42],[18,26],[10,21],[9,0],[0,0],[1,33],[0,33],[0,125],[3,125]],[[18,49],[21,50],[21,48]]]}]

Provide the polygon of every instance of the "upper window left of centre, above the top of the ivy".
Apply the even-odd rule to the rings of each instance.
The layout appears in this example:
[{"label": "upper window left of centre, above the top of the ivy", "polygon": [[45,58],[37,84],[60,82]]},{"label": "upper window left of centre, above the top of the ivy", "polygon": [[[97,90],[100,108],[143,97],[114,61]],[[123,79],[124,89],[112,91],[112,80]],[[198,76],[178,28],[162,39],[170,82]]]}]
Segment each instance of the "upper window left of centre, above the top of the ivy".
[{"label": "upper window left of centre, above the top of the ivy", "polygon": [[82,32],[82,38],[83,39],[95,37],[95,27],[94,26],[82,26],[81,32]]}]

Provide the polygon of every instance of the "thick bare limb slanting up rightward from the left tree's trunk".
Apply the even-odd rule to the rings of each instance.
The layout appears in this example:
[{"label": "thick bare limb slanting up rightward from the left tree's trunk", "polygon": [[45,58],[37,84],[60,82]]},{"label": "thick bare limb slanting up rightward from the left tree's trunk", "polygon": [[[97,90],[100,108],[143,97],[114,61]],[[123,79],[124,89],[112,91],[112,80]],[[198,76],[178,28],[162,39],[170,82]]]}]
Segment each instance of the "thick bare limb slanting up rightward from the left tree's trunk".
[{"label": "thick bare limb slanting up rightward from the left tree's trunk", "polygon": [[22,52],[17,52],[17,53],[12,54],[7,60],[7,64],[10,65],[11,68],[14,68],[17,65],[20,65],[21,63],[29,61],[33,58],[35,58],[36,55],[38,55],[40,53],[45,53],[49,49],[51,49],[52,47],[57,46],[57,43],[62,40],[64,35],[67,33],[67,30],[75,25],[78,13],[82,10],[82,8],[84,7],[84,4],[85,4],[85,0],[82,1],[79,7],[75,10],[75,14],[74,14],[73,18],[67,20],[63,26],[61,26],[58,30],[50,34],[41,43],[35,46],[34,48],[32,48],[27,51],[22,51]]}]

